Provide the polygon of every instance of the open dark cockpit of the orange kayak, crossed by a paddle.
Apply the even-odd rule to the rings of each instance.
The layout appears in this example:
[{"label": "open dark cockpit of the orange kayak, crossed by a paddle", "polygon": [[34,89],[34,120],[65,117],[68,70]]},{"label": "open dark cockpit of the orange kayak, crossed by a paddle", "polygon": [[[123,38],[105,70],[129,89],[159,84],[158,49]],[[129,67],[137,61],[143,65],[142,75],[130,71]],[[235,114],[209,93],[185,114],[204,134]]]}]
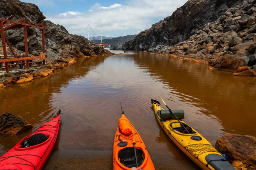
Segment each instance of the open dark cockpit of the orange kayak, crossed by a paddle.
[{"label": "open dark cockpit of the orange kayak, crossed by a paddle", "polygon": [[[136,167],[134,147],[125,147],[124,149],[120,150],[120,152],[118,153],[118,158],[121,164],[123,164],[125,167],[128,167],[128,168]],[[144,158],[145,156],[143,151],[140,149],[137,149],[138,166],[143,164]]]}]

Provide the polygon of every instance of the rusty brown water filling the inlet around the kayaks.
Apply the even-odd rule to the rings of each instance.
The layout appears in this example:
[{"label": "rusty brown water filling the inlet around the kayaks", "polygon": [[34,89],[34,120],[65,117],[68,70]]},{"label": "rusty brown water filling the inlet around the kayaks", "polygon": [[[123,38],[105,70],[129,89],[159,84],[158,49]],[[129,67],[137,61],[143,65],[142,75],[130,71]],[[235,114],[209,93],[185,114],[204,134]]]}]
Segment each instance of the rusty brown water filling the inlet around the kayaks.
[{"label": "rusty brown water filling the inlet around the kayaks", "polygon": [[[209,71],[205,64],[142,52],[81,60],[50,77],[11,85],[0,90],[0,112],[23,117],[35,130],[61,109],[64,124],[45,169],[64,164],[60,160],[97,156],[106,158],[98,162],[106,169],[112,167],[122,102],[157,168],[198,169],[157,124],[150,109],[150,99],[158,99],[157,95],[170,108],[183,109],[184,121],[212,144],[225,133],[256,136],[255,77],[234,77]],[[0,145],[10,149],[28,133],[2,136]]]}]

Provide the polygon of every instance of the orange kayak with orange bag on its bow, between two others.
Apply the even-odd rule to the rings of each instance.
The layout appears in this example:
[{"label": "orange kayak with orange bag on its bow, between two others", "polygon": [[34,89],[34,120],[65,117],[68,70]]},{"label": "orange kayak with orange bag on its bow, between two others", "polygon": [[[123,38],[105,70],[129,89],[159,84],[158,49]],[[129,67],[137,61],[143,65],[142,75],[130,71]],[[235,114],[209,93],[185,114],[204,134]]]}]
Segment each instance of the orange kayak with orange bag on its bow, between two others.
[{"label": "orange kayak with orange bag on its bow, between two others", "polygon": [[[134,134],[134,135],[133,135]],[[134,143],[136,149],[134,149]],[[137,155],[137,163],[135,157]],[[137,167],[138,164],[138,167]],[[113,148],[113,170],[154,170],[154,164],[139,133],[122,113]]]}]

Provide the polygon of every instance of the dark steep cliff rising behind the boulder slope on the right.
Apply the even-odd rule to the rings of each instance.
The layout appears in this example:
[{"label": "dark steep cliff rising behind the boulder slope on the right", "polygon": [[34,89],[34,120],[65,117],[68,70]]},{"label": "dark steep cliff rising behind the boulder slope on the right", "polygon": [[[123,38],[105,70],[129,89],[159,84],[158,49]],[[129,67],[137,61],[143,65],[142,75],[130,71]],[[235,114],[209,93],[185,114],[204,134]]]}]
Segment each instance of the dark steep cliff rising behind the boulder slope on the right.
[{"label": "dark steep cliff rising behind the boulder slope on the right", "polygon": [[241,4],[243,0],[189,0],[170,17],[142,31],[134,40],[127,41],[125,50],[148,50],[157,45],[172,46],[187,40],[206,23],[217,20],[229,8]]}]

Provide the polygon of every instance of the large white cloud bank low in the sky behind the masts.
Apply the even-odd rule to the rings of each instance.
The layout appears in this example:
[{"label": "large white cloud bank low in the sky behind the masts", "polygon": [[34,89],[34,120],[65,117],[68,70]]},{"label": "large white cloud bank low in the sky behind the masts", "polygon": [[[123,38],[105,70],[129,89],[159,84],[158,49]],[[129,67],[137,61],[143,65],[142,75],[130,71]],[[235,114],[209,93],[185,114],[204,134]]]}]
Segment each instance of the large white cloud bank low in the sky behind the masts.
[{"label": "large white cloud bank low in the sky behind the masts", "polygon": [[[125,4],[102,7],[95,3],[89,11],[67,11],[62,14],[45,14],[46,20],[63,25],[71,34],[82,34],[90,24],[96,34],[101,26],[104,35],[123,36],[148,29],[151,24],[172,15],[187,0],[128,0]],[[153,21],[154,20],[154,21]],[[85,31],[86,32],[86,31]],[[85,34],[83,34],[85,36]],[[93,32],[90,32],[91,36]]]}]

